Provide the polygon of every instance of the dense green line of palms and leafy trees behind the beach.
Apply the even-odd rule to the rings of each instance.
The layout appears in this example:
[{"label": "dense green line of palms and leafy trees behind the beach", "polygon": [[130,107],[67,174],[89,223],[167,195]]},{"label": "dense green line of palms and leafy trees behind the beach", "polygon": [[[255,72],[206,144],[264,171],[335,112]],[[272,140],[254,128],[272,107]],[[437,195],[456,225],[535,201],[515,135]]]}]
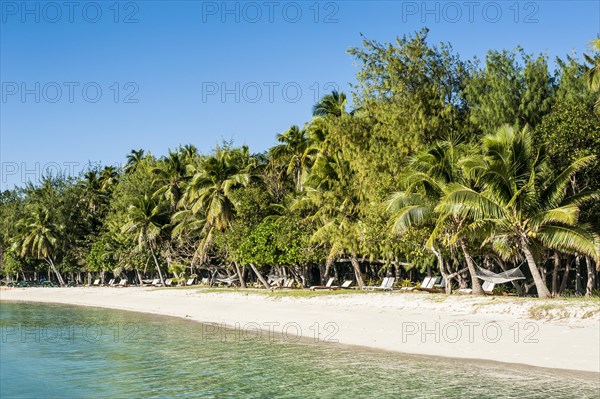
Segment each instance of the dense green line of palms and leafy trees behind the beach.
[{"label": "dense green line of palms and leafy trees behind the beach", "polygon": [[[591,295],[600,271],[600,41],[582,62],[518,48],[462,60],[423,30],[349,50],[352,107],[333,92],[302,127],[253,154],[223,143],[122,168],[47,176],[2,193],[5,279],[164,281],[215,272],[306,286],[352,275],[441,274],[481,292],[476,268],[522,265],[506,289]],[[66,278],[68,276],[69,278]]]}]

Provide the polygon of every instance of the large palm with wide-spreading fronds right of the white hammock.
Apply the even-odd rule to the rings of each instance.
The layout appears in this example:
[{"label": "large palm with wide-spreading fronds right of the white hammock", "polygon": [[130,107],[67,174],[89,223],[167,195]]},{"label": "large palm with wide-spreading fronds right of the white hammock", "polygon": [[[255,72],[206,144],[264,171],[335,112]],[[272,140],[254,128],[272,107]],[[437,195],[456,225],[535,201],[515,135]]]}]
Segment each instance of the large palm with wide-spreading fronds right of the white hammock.
[{"label": "large palm with wide-spreading fronds right of the white hammock", "polygon": [[538,296],[550,292],[538,270],[536,248],[581,253],[600,259],[600,240],[587,225],[578,222],[579,208],[598,200],[597,192],[567,197],[573,175],[593,156],[576,160],[556,177],[548,178],[543,149],[535,149],[527,128],[515,132],[505,126],[483,138],[485,156],[472,168],[479,190],[453,183],[436,208],[468,219],[453,240],[467,235],[484,237],[500,256],[518,248],[527,264]]}]

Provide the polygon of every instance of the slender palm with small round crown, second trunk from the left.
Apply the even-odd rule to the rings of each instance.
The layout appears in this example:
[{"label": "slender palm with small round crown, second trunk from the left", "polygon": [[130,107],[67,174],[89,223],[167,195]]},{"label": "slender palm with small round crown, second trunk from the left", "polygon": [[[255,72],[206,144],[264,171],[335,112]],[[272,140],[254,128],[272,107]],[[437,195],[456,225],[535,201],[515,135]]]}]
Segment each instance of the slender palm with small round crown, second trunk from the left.
[{"label": "slender palm with small round crown, second trunk from the left", "polygon": [[166,212],[162,203],[146,194],[129,206],[127,223],[121,229],[123,233],[136,235],[140,250],[143,248],[150,250],[162,285],[164,285],[164,279],[154,251],[154,245],[160,238],[162,226],[166,224],[166,221]]}]

